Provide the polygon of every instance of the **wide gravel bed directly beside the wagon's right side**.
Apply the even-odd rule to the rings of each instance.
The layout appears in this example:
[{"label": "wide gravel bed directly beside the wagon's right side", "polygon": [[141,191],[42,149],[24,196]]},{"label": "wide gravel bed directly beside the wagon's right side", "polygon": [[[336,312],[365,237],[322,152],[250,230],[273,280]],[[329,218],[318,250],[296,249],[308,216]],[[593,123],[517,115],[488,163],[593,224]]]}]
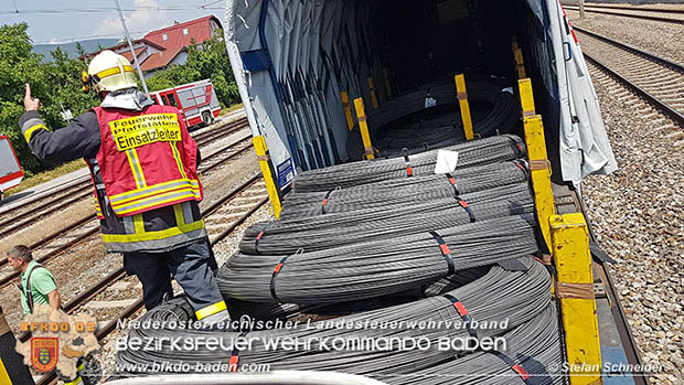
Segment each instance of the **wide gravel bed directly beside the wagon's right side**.
[{"label": "wide gravel bed directly beside the wagon's right side", "polygon": [[596,69],[592,78],[620,170],[583,184],[589,217],[616,259],[614,282],[644,363],[663,366],[652,382],[681,384],[684,132],[659,116],[645,118],[643,105]]}]

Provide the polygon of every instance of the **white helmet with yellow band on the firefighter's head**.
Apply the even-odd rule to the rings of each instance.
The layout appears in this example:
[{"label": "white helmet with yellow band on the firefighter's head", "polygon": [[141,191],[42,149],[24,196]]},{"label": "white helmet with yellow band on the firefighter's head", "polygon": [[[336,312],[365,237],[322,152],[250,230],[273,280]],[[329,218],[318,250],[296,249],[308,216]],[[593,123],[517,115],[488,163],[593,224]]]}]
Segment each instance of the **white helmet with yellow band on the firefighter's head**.
[{"label": "white helmet with yellow band on the firefighter's head", "polygon": [[96,93],[103,90],[118,90],[130,87],[138,87],[136,73],[128,58],[105,50],[93,57],[88,65],[87,74],[83,74],[84,90],[88,90],[88,85],[93,86]]}]

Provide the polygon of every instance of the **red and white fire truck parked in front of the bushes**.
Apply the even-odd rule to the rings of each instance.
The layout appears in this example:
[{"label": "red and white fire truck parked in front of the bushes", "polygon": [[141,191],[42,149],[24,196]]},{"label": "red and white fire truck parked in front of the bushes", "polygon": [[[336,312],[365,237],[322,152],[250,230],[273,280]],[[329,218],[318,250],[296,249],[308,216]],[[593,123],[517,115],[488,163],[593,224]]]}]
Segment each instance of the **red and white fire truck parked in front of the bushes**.
[{"label": "red and white fire truck parked in front of the bushes", "polygon": [[204,79],[150,93],[158,105],[173,106],[181,110],[188,127],[209,126],[221,114],[221,104],[212,81]]}]

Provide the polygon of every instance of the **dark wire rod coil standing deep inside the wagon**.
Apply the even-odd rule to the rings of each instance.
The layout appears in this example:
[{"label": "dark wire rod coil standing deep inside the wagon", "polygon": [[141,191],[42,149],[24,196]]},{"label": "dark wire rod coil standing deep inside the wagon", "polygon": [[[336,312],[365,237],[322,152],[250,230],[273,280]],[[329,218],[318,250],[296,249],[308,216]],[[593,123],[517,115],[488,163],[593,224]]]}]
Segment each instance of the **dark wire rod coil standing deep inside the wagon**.
[{"label": "dark wire rod coil standing deep inside the wagon", "polygon": [[[432,149],[463,141],[466,137],[461,128],[460,113],[456,111],[458,109],[456,95],[453,82],[446,81],[441,85],[418,89],[387,101],[368,114],[367,126],[372,142],[380,145],[381,154],[396,157],[400,156],[403,148]],[[485,106],[473,110],[472,114],[473,132],[479,137],[488,137],[498,132],[509,133],[516,127],[520,118],[517,101],[512,92],[496,82],[481,79],[469,82],[468,98],[473,106]],[[426,108],[427,105],[436,107]],[[455,110],[446,118],[439,116],[441,115],[439,109],[445,105]],[[416,117],[416,114],[419,116]],[[394,122],[399,118],[412,116],[418,119],[418,126],[420,126],[420,121],[429,120],[432,115],[437,115],[438,119],[426,129],[427,132],[416,130],[415,125],[412,124],[404,126],[402,122]],[[403,128],[409,130],[408,135],[400,132]],[[448,132],[442,133],[441,130]],[[397,136],[396,141],[392,140],[394,136]],[[352,160],[363,158],[365,151],[357,127],[348,137],[346,150]]]}]

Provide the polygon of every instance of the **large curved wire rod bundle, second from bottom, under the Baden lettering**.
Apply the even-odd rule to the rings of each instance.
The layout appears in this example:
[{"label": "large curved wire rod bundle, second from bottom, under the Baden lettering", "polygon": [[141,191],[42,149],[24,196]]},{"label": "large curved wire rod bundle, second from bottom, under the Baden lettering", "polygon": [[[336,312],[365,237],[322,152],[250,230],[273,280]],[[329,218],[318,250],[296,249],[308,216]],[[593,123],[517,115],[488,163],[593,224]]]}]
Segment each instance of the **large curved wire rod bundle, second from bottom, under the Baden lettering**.
[{"label": "large curved wire rod bundle, second from bottom, under the Baden lettering", "polygon": [[[159,349],[119,352],[117,367],[128,372],[117,375],[145,375],[145,366],[136,364],[149,362],[164,362],[167,367],[186,367],[188,372],[196,366],[182,365],[191,362],[269,364],[270,370],[340,371],[371,376],[415,373],[448,362],[455,354],[473,354],[468,350],[437,349],[442,339],[464,339],[473,332],[478,338],[502,335],[546,311],[551,303],[551,276],[542,264],[532,258],[523,260],[526,271],[509,271],[493,266],[482,278],[443,296],[295,328],[249,332],[133,329],[129,338],[149,339],[145,341],[151,341]],[[462,316],[466,312],[459,309],[466,309],[467,316]],[[146,317],[153,319],[156,314],[157,311],[152,310]],[[180,319],[186,314],[181,312],[178,317]],[[466,317],[471,322],[466,321]],[[374,327],[368,327],[371,324]],[[199,345],[179,351],[173,349],[172,341],[177,338],[202,338],[204,341],[217,338],[223,342],[213,346],[215,349]],[[237,350],[231,344],[238,338],[248,339],[249,349]],[[306,349],[288,347],[282,339],[296,341],[297,346]],[[371,341],[381,339],[384,343],[373,349]],[[402,341],[406,339],[420,339],[428,349],[402,349]],[[362,347],[362,343],[366,343],[363,345],[366,349]],[[396,377],[387,378],[392,381]]]}]

